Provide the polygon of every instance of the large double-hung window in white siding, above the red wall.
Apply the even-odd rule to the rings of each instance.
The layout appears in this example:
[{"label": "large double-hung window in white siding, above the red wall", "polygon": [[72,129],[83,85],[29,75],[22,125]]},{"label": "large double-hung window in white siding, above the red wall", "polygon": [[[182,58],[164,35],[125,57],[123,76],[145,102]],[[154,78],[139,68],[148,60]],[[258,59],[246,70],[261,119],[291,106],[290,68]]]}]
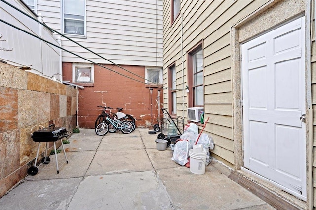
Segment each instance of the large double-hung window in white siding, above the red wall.
[{"label": "large double-hung window in white siding, above the red wall", "polygon": [[63,31],[85,36],[85,0],[63,0]]}]

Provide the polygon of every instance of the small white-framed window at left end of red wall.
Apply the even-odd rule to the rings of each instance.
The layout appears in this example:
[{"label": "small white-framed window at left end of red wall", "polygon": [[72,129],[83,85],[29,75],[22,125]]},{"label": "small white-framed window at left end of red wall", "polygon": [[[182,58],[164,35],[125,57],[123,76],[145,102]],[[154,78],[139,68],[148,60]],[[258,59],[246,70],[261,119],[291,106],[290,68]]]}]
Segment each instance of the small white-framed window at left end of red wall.
[{"label": "small white-framed window at left end of red wall", "polygon": [[93,83],[94,65],[92,63],[73,63],[73,82]]}]

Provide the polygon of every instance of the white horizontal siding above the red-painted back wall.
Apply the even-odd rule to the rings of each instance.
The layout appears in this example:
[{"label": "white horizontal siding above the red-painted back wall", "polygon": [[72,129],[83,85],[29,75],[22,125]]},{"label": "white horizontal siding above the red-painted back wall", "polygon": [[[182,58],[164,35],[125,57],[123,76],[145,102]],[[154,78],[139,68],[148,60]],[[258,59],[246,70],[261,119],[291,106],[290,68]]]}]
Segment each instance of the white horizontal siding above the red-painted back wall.
[{"label": "white horizontal siding above the red-painted back wall", "polygon": [[[60,0],[38,0],[38,13],[60,32]],[[87,37],[71,37],[117,64],[162,66],[162,0],[86,0]],[[97,63],[109,63],[62,38],[65,49]],[[63,62],[87,62],[63,52]]]}]

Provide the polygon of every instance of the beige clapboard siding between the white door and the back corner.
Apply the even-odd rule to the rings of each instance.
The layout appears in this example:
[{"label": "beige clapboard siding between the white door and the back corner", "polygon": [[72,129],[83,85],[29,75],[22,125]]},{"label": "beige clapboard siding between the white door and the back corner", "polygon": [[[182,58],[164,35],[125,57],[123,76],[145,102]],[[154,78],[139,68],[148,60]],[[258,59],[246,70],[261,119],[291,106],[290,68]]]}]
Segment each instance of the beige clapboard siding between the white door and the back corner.
[{"label": "beige clapboard siding between the white door and the back corner", "polygon": [[[258,9],[267,0],[181,0],[181,15],[171,25],[170,0],[163,1],[163,69],[164,85],[168,86],[168,66],[176,62],[177,88],[182,87],[182,77],[187,84],[187,52],[203,41],[204,56],[204,111],[210,117],[205,132],[213,137],[214,154],[234,164],[232,70],[231,70],[231,27],[240,19]],[[181,27],[183,29],[181,31]],[[181,46],[181,32],[182,46]],[[181,54],[183,47],[183,55]],[[182,73],[182,57],[184,72]],[[180,77],[179,77],[180,76]],[[187,107],[187,97],[183,105],[181,91],[177,92],[178,113]],[[181,96],[183,93],[181,92]],[[163,94],[164,106],[168,107],[167,91]],[[184,118],[187,112],[184,110]],[[216,137],[215,137],[216,136]],[[225,140],[223,140],[225,139]]]}]

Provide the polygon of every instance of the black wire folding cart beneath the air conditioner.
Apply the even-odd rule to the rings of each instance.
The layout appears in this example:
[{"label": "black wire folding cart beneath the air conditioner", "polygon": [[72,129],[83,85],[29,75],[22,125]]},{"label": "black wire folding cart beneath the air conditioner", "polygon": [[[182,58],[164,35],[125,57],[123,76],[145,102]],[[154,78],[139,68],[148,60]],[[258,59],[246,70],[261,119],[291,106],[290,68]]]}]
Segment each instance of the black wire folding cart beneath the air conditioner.
[{"label": "black wire folding cart beneath the air conditioner", "polygon": [[[169,114],[169,112],[165,109],[165,108],[161,108],[162,110],[162,123],[161,123],[161,133],[158,134],[157,139],[165,139],[168,141],[168,146],[171,143],[175,143],[180,136],[183,133],[183,128],[184,128],[184,119],[181,117],[176,117],[176,118],[172,118],[171,115]],[[176,135],[172,134],[169,135],[168,134],[168,125],[170,125],[171,123],[174,123],[175,127],[176,127]]]}]

